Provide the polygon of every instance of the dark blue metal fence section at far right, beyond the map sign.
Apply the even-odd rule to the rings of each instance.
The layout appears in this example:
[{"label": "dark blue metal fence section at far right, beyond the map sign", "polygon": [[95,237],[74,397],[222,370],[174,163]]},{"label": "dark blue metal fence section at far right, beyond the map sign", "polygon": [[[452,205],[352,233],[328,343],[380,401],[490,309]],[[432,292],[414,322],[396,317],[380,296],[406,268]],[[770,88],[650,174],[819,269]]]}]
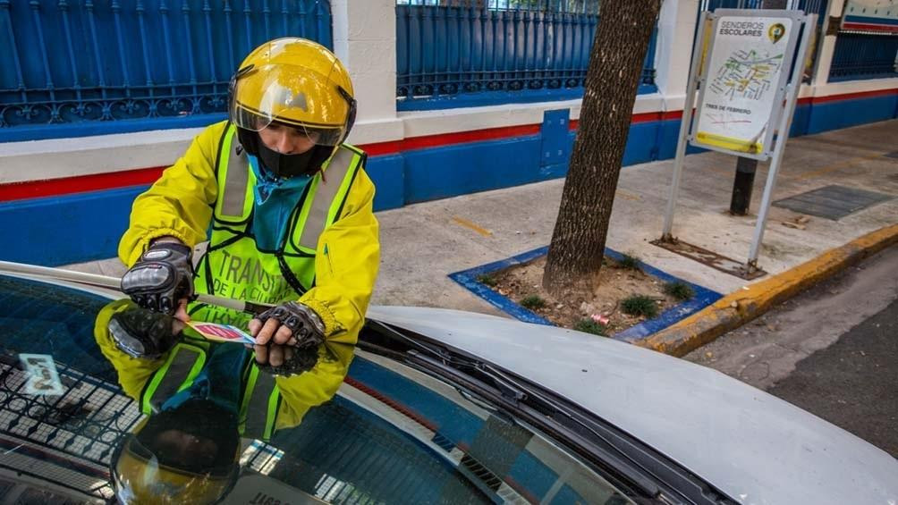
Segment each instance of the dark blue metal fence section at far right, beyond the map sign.
[{"label": "dark blue metal fence section at far right, beyond the map sign", "polygon": [[883,77],[898,77],[898,35],[840,32],[829,80]]}]

